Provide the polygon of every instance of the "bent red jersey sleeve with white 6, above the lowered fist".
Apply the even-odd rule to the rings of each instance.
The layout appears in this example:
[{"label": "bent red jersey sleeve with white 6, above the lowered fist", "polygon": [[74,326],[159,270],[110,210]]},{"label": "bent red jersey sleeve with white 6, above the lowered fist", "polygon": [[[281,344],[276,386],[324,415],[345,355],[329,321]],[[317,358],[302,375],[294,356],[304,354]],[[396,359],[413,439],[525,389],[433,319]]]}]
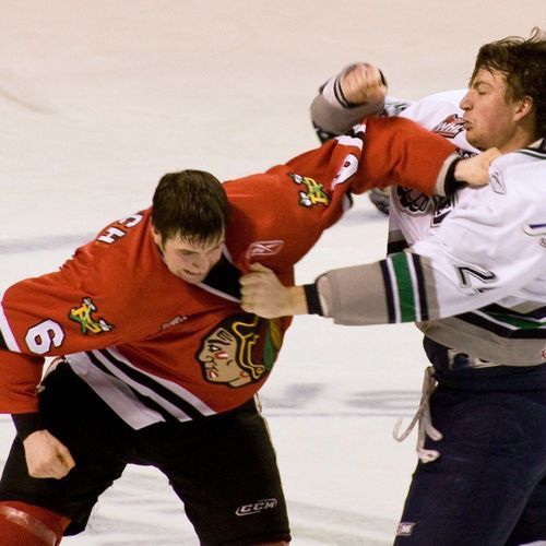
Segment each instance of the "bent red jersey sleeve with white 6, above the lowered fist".
[{"label": "bent red jersey sleeve with white 6, above the lowered fist", "polygon": [[0,412],[37,410],[45,357],[117,345],[133,333],[122,313],[122,287],[107,275],[105,283],[98,274],[81,273],[85,283],[62,269],[0,294]]}]

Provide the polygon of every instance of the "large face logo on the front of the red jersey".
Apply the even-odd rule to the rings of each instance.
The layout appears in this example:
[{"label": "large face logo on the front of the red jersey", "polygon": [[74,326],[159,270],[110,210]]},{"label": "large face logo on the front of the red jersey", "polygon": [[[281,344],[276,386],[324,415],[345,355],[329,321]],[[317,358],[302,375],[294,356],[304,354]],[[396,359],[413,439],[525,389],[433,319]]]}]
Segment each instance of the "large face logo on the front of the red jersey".
[{"label": "large face logo on the front of the red jersey", "polygon": [[206,381],[238,388],[271,371],[282,341],[278,319],[232,314],[203,337],[195,357]]}]

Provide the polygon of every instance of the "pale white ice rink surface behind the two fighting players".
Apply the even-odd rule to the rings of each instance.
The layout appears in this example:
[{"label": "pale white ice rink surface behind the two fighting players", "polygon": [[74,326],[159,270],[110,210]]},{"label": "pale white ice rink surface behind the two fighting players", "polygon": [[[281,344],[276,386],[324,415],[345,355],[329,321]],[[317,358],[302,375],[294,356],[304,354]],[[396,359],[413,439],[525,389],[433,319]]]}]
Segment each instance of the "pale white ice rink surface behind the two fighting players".
[{"label": "pale white ice rink surface behind the two fighting players", "polygon": [[[393,95],[418,98],[465,86],[480,44],[546,26],[543,0],[0,0],[0,9],[2,286],[57,268],[105,224],[147,206],[166,171],[229,179],[314,147],[308,104],[352,61],[376,62]],[[385,230],[360,198],[298,264],[298,281],[380,259]],[[262,391],[293,544],[391,543],[416,462],[415,438],[397,444],[391,430],[412,415],[425,363],[412,325],[295,320]],[[12,434],[0,418],[0,462]],[[131,467],[88,531],[66,544],[197,539],[165,478]]]}]

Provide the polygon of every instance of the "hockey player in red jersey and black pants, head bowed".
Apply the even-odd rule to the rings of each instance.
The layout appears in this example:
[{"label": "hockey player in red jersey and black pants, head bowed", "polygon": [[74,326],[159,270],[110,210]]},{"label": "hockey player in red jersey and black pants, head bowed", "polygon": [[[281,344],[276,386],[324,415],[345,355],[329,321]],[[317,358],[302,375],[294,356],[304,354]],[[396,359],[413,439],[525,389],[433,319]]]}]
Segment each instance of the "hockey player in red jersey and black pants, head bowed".
[{"label": "hockey player in red jersey and black pants, head bowed", "polygon": [[[201,544],[287,544],[253,396],[289,319],[241,311],[239,276],[259,260],[292,283],[351,193],[393,181],[442,191],[453,158],[408,120],[370,119],[261,175],[166,175],[151,209],[105,227],[59,271],[8,287],[0,410],[17,437],[0,483],[2,544],[82,532],[128,463],[166,474]],[[45,357],[58,358],[40,382]],[[204,456],[213,451],[222,465]],[[261,508],[241,518],[248,503]]]}]

